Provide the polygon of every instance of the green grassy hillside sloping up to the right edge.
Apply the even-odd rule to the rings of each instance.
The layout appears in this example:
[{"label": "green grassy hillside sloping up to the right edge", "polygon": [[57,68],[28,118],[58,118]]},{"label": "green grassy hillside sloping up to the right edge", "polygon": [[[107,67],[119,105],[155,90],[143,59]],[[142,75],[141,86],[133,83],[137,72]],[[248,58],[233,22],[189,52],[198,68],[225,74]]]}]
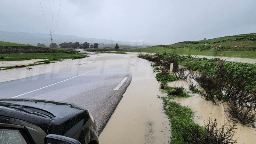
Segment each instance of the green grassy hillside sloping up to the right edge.
[{"label": "green grassy hillside sloping up to the right edge", "polygon": [[225,36],[210,40],[186,41],[170,45],[158,45],[150,48],[127,50],[125,52],[149,52],[214,56],[216,52],[224,57],[256,59],[256,34]]}]

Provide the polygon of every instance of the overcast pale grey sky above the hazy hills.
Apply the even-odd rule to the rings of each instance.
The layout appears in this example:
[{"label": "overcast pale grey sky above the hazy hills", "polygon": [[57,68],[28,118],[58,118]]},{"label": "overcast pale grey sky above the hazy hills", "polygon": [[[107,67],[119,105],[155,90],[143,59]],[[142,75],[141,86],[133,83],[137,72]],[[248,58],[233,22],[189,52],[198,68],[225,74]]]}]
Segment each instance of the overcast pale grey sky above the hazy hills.
[{"label": "overcast pale grey sky above the hazy hills", "polygon": [[[0,30],[55,30],[60,0],[0,0]],[[52,24],[53,8],[53,24]],[[173,44],[256,33],[255,0],[62,0],[54,32]]]}]

